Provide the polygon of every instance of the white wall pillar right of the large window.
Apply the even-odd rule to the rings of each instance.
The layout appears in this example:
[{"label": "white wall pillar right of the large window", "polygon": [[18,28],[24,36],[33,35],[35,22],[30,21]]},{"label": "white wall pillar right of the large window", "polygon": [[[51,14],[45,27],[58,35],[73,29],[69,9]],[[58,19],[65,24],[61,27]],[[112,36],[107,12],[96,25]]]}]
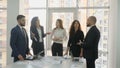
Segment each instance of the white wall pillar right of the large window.
[{"label": "white wall pillar right of the large window", "polygon": [[116,68],[117,1],[118,0],[110,0],[108,68]]}]

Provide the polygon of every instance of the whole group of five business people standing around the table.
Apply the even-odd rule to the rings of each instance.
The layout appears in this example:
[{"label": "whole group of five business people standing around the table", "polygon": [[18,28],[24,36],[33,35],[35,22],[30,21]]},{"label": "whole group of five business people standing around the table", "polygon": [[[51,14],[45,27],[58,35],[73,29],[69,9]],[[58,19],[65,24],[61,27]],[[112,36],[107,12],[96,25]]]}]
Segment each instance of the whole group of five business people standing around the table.
[{"label": "whole group of five business people standing around the table", "polygon": [[[86,58],[87,68],[95,68],[95,60],[98,58],[98,43],[100,32],[96,27],[96,17],[90,16],[87,19],[87,27],[90,27],[86,37],[81,29],[80,22],[74,20],[69,31],[69,40],[65,55],[68,52],[73,57]],[[32,55],[29,50],[29,40],[25,26],[25,16],[17,16],[18,25],[11,30],[10,46],[12,48],[12,57],[14,62],[25,60],[26,55]],[[51,34],[52,56],[63,56],[63,41],[67,39],[66,30],[63,27],[63,21],[57,19],[56,27],[52,32],[44,33],[43,26],[40,25],[38,17],[33,17],[30,26],[30,37],[32,40],[33,54],[44,56],[44,37]]]}]

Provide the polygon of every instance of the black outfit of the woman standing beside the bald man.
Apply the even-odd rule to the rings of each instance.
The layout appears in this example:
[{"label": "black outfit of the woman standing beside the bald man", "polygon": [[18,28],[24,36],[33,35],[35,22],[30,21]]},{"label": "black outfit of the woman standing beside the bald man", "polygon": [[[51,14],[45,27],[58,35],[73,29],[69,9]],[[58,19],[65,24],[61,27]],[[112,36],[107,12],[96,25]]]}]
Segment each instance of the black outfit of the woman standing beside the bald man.
[{"label": "black outfit of the woman standing beside the bald man", "polygon": [[78,30],[76,33],[69,36],[68,47],[73,57],[79,57],[81,52],[81,47],[77,44],[84,39],[84,33],[81,30]]}]

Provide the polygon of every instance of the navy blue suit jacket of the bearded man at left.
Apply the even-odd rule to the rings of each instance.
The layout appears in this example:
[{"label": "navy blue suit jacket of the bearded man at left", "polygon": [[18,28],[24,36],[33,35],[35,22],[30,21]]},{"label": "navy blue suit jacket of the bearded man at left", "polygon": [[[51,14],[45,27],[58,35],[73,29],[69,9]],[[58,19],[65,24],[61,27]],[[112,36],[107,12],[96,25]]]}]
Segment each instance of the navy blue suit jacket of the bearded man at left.
[{"label": "navy blue suit jacket of the bearded man at left", "polygon": [[25,58],[29,52],[28,36],[25,29],[24,31],[26,37],[18,25],[11,30],[10,46],[12,48],[12,57],[18,57],[21,54]]}]

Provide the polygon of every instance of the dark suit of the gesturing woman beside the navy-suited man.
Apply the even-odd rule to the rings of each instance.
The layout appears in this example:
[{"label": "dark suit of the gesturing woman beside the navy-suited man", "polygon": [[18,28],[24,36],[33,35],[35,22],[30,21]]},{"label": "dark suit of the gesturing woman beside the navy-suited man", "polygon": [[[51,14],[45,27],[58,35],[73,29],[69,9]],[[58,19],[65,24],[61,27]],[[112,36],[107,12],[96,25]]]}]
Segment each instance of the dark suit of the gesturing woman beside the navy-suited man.
[{"label": "dark suit of the gesturing woman beside the navy-suited man", "polygon": [[[30,37],[32,40],[32,48],[33,48],[34,55],[36,55],[39,52],[44,50],[44,39],[43,38],[46,36],[46,34],[44,33],[43,26],[40,26],[40,29],[41,29],[41,34],[42,34],[42,42],[39,42],[40,36],[39,36],[38,31],[37,31],[37,28],[30,27]],[[35,37],[32,37],[32,33],[35,34]],[[42,55],[44,56],[44,53],[42,53]]]}]

